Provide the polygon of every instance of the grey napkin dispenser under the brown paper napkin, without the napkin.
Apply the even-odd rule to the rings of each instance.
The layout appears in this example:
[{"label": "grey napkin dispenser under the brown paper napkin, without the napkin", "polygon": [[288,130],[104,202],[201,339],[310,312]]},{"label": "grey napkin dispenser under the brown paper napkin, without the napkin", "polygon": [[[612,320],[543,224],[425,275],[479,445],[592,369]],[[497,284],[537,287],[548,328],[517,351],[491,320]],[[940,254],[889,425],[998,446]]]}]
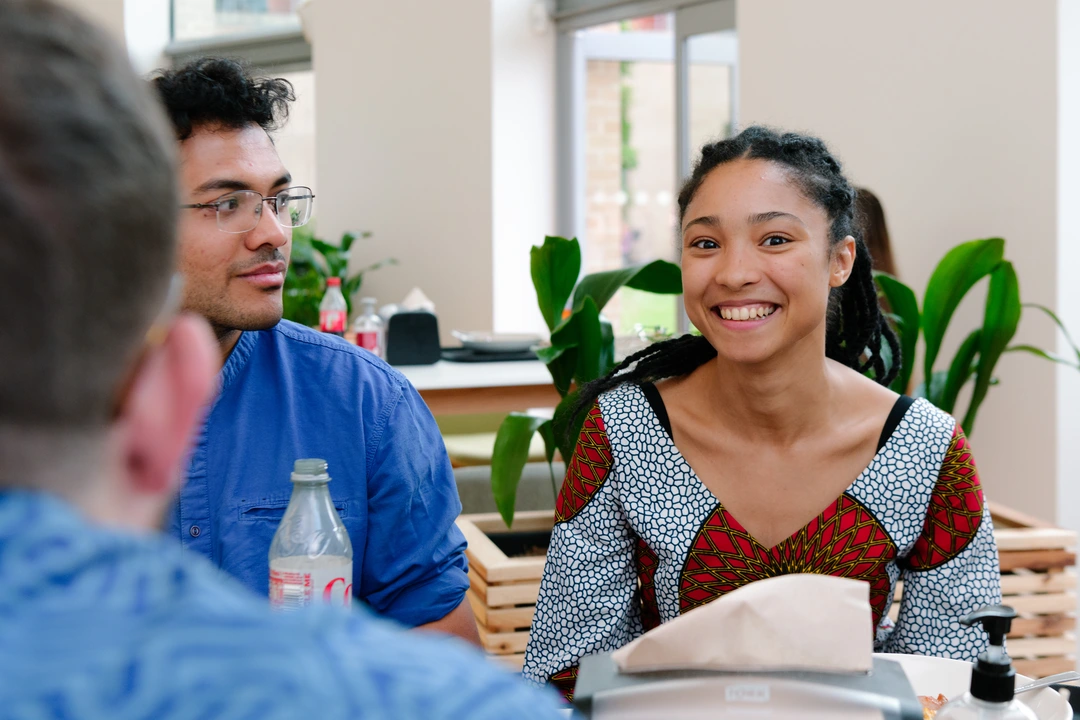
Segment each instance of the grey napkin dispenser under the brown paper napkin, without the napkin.
[{"label": "grey napkin dispenser under the brown paper napkin, without the napkin", "polygon": [[801,670],[624,674],[611,653],[602,653],[581,660],[573,705],[591,720],[922,719],[904,668],[885,657],[874,657],[870,673],[862,675]]}]

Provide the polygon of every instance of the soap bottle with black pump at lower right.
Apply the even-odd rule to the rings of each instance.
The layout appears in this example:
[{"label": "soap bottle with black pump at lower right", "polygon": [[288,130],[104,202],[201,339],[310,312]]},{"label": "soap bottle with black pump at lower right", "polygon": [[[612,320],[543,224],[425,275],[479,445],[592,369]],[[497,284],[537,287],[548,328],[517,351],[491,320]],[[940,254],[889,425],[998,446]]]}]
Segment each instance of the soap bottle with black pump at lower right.
[{"label": "soap bottle with black pump at lower right", "polygon": [[934,720],[1037,720],[1031,708],[1013,697],[1016,671],[1004,643],[1015,616],[1012,608],[991,604],[960,619],[964,625],[982,623],[990,647],[971,669],[971,690],[946,703]]}]

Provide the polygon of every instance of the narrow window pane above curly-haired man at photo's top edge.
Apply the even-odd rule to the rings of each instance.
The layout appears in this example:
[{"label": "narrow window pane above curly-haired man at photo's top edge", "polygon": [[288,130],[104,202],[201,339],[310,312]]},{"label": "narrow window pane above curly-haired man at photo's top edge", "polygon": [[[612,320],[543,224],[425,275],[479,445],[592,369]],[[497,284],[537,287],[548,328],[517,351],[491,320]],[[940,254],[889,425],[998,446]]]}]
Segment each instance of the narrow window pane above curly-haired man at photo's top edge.
[{"label": "narrow window pane above curly-haired man at photo's top edge", "polygon": [[299,23],[302,0],[173,0],[173,39],[257,32]]}]

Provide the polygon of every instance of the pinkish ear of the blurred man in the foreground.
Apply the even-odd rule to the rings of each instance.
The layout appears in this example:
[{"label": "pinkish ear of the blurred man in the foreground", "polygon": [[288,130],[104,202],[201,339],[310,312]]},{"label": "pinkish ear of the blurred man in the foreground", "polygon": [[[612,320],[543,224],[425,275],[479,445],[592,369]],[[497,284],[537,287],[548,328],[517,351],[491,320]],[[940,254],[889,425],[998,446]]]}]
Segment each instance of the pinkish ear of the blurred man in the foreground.
[{"label": "pinkish ear of the blurred man in the foreground", "polygon": [[178,317],[143,358],[117,419],[127,491],[171,499],[220,356],[206,322]]}]

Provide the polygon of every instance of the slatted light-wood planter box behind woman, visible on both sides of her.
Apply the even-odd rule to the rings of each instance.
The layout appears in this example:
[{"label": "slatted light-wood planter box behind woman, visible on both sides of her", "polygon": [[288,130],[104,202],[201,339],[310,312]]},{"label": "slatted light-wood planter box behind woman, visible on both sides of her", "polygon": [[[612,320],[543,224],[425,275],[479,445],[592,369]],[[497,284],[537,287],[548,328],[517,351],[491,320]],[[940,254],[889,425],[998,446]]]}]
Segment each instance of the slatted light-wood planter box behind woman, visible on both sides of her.
[{"label": "slatted light-wood planter box behind woman, visible on both sides of her", "polygon": [[[1004,603],[1020,613],[1009,634],[1016,671],[1039,678],[1076,669],[1077,533],[990,503]],[[511,531],[551,530],[551,511],[517,513]],[[507,557],[488,535],[508,532],[497,513],[462,515],[469,541],[469,601],[488,653],[521,669],[536,612],[543,557]],[[896,586],[896,600],[903,583]],[[892,614],[900,609],[894,602]]]}]

